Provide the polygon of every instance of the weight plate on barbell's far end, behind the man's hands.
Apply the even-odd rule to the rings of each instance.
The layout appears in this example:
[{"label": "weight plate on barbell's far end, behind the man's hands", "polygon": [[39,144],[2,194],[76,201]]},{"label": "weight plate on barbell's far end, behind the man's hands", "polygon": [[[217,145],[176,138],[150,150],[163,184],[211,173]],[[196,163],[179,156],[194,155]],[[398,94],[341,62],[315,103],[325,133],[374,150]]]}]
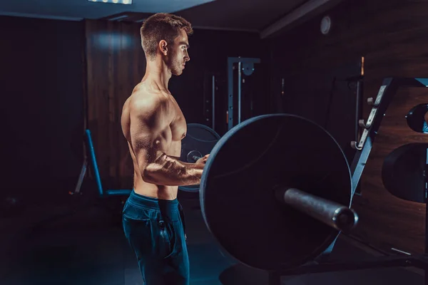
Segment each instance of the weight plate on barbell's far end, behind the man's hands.
[{"label": "weight plate on barbell's far end, behind the man's hands", "polygon": [[[185,138],[181,140],[180,160],[194,163],[194,160],[188,159],[188,157],[191,157],[191,155],[188,155],[190,152],[192,152],[193,155],[197,153],[208,155],[219,139],[220,135],[215,133],[215,130],[208,126],[198,123],[189,123],[187,125]],[[199,185],[179,186],[178,189],[186,192],[198,192]]]}]

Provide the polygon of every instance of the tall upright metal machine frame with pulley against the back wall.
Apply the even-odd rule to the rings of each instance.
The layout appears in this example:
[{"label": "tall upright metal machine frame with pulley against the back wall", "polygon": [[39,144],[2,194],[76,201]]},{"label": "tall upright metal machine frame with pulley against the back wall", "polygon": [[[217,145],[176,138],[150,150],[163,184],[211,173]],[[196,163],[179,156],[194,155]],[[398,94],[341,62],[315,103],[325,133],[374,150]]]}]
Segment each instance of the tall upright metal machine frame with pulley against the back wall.
[{"label": "tall upright metal machine frame with pulley against the back wall", "polygon": [[254,72],[254,63],[260,63],[260,58],[241,58],[240,56],[228,58],[228,130],[234,127],[233,125],[233,71],[234,63],[238,63],[238,124],[241,123],[241,83],[242,73],[245,76],[250,76]]}]

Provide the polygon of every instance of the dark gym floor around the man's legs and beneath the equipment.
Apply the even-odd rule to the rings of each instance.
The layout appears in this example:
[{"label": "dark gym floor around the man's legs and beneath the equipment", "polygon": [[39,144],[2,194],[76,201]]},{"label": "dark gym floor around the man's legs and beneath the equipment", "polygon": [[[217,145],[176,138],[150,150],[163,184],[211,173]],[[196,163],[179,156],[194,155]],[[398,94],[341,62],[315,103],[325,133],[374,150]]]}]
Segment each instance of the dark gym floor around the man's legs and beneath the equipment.
[{"label": "dark gym floor around the man's legs and beneath the equipment", "polygon": [[[135,256],[123,237],[121,205],[116,199],[96,204],[77,202],[73,207],[69,202],[67,207],[38,204],[2,219],[0,284],[143,284]],[[185,209],[190,284],[267,284],[265,271],[237,264],[220,252],[205,227],[198,199],[180,197],[180,202]],[[352,260],[371,256],[357,244],[345,237],[339,239],[332,257]],[[421,272],[402,268],[282,277],[282,284],[287,285],[410,285],[423,281]]]}]

